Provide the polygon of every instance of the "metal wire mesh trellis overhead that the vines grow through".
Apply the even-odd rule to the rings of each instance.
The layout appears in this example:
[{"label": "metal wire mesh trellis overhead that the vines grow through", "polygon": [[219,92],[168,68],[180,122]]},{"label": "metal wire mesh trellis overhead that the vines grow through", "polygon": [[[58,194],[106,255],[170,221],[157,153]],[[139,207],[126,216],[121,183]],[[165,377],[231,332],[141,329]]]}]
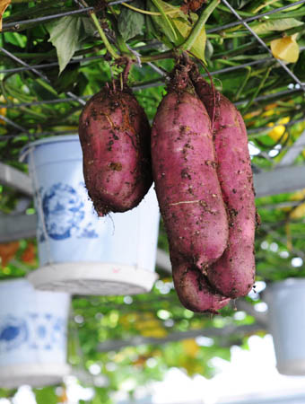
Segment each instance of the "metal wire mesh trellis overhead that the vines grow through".
[{"label": "metal wire mesh trellis overhead that the vines grow through", "polygon": [[[131,1],[131,0],[126,0],[126,2],[128,2],[128,1]],[[80,5],[80,2],[78,2],[78,1],[75,1],[75,3]],[[110,2],[109,5],[120,4],[120,3],[123,3],[123,0]],[[285,90],[278,91],[278,92],[271,92],[269,94],[265,93],[264,95],[257,95],[253,100],[244,99],[244,100],[236,101],[235,105],[237,105],[237,106],[245,105],[250,101],[253,103],[253,102],[259,102],[259,101],[273,100],[274,98],[278,99],[279,97],[284,97],[284,96],[289,96],[289,95],[292,95],[295,93],[304,92],[305,84],[302,83],[301,80],[296,75],[294,75],[292,70],[288,66],[286,66],[282,60],[274,57],[270,48],[266,45],[265,41],[262,40],[257,35],[257,33],[255,31],[253,31],[253,29],[248,25],[248,22],[259,21],[263,18],[266,18],[267,16],[269,16],[271,14],[279,13],[292,6],[296,6],[296,5],[303,4],[303,3],[305,3],[305,0],[286,4],[283,7],[275,8],[266,13],[259,13],[252,17],[241,18],[240,14],[232,7],[232,5],[227,0],[222,0],[222,4],[224,4],[227,7],[227,9],[231,12],[231,15],[235,16],[236,21],[230,22],[227,24],[223,24],[216,28],[210,28],[207,30],[207,34],[212,34],[217,31],[223,31],[225,29],[233,28],[233,27],[236,27],[236,26],[239,26],[240,24],[242,24],[246,28],[246,30],[248,30],[251,37],[254,40],[257,40],[257,46],[262,47],[269,56],[262,57],[258,60],[251,60],[251,61],[247,61],[244,63],[240,63],[237,66],[226,66],[222,69],[217,69],[215,71],[211,71],[210,74],[211,75],[225,75],[225,74],[233,72],[235,70],[246,69],[246,68],[252,67],[252,66],[266,66],[266,65],[272,66],[274,64],[274,66],[281,66],[283,68],[283,70],[286,72],[286,74],[288,74],[291,77],[292,83],[294,83],[294,85],[292,86],[293,88],[285,89]],[[62,12],[62,13],[54,13],[54,14],[43,16],[43,17],[29,19],[29,20],[18,20],[18,21],[7,22],[7,23],[4,22],[3,29],[4,29],[4,31],[8,31],[10,28],[13,29],[12,31],[21,30],[21,29],[24,29],[24,26],[27,26],[29,24],[34,24],[34,23],[38,23],[38,22],[39,23],[47,22],[49,20],[58,19],[58,18],[61,18],[63,16],[68,16],[68,15],[77,15],[80,13],[88,13],[92,10],[93,10],[93,7],[84,7],[83,5],[81,5],[81,8],[79,8],[77,10],[70,10],[70,11]],[[152,41],[151,46],[152,46],[152,48],[153,47],[155,48],[160,45],[161,45],[160,42],[154,40],[154,41]],[[150,48],[150,44],[149,43],[146,44],[145,47],[146,47],[146,49],[147,49],[147,47]],[[136,48],[135,50],[141,51],[141,47]],[[0,74],[12,75],[14,73],[27,73],[27,74],[32,73],[32,74],[38,76],[39,78],[41,78],[42,80],[44,80],[46,83],[51,84],[48,79],[48,76],[43,74],[41,72],[41,70],[48,69],[51,67],[57,67],[58,62],[41,63],[41,64],[35,64],[35,65],[31,66],[29,63],[22,60],[21,57],[16,57],[15,55],[13,55],[12,52],[9,52],[5,48],[0,48],[0,51],[6,57],[9,57],[11,60],[13,60],[16,64],[21,65],[21,66],[13,67],[13,68],[4,68],[4,69],[0,70]],[[86,64],[88,62],[92,62],[95,60],[99,61],[100,59],[103,59],[103,58],[104,58],[103,56],[87,57],[86,55],[84,55],[82,57],[74,57],[73,59],[70,60],[70,62],[68,63],[67,66],[71,66],[74,64],[78,64],[78,63]],[[156,71],[160,75],[160,79],[154,80],[153,82],[148,82],[148,83],[138,83],[132,87],[134,91],[140,91],[140,90],[164,85],[164,82],[166,79],[166,75],[164,74],[164,72],[162,72],[158,66],[153,65],[153,63],[150,63],[150,66],[153,68],[154,71]],[[58,98],[52,99],[52,100],[34,100],[34,101],[29,101],[29,102],[23,101],[23,102],[5,102],[5,103],[1,102],[0,107],[6,108],[6,109],[16,109],[17,110],[17,109],[24,109],[24,108],[30,108],[30,107],[35,107],[35,106],[41,106],[41,105],[54,105],[54,104],[60,104],[60,103],[76,102],[77,103],[76,108],[80,109],[84,105],[85,101],[89,98],[89,96],[75,95],[73,92],[65,92],[64,95],[65,95],[64,97],[58,97]],[[17,137],[17,136],[21,136],[21,135],[30,136],[30,129],[22,127],[22,125],[17,124],[15,122],[13,122],[12,119],[7,119],[4,116],[2,116],[2,117],[0,116],[0,119],[2,119],[6,124],[12,126],[16,131],[18,131],[17,133],[13,133],[13,134],[6,135],[6,136],[1,136],[2,140],[11,139],[13,137]],[[254,129],[253,133],[258,133],[258,132],[259,132],[259,128]],[[53,132],[51,132],[51,131],[40,131],[39,134],[37,134],[37,136],[48,136],[48,135],[51,135],[52,133]],[[68,131],[68,132],[57,131],[56,132],[56,134],[65,134],[65,133],[71,133],[71,131]]]}]

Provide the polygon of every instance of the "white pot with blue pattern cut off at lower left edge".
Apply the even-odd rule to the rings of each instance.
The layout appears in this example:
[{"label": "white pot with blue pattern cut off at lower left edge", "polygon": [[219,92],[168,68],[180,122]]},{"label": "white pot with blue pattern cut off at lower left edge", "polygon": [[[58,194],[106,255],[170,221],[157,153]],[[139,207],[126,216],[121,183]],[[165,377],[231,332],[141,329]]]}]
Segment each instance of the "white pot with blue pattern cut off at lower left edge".
[{"label": "white pot with blue pattern cut off at lower left edge", "polygon": [[69,294],[41,292],[26,279],[0,282],[0,387],[61,382]]}]

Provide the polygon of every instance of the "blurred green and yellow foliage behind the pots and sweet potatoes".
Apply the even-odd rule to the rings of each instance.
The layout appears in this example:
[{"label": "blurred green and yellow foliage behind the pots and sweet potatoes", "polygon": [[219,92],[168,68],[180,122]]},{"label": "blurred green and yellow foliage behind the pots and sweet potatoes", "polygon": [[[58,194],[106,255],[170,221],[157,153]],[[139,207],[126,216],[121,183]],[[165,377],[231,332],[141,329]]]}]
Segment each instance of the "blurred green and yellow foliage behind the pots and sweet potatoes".
[{"label": "blurred green and yellow foliage behind the pots and sweet potatoes", "polygon": [[[175,15],[163,15],[162,23],[157,23],[156,16],[152,18],[122,4],[104,7],[100,1],[88,0],[87,3],[95,7],[100,24],[116,51],[133,57],[135,62],[136,51],[151,62],[135,63],[129,83],[152,120],[166,91],[160,71],[168,75],[174,66],[173,54],[166,54],[164,59],[161,57],[187,38],[206,5],[196,11],[196,17],[193,14],[184,16],[179,8],[174,8]],[[160,1],[150,3],[153,3],[150,7],[154,11],[158,4],[164,4]],[[179,7],[182,1],[167,3],[172,9]],[[133,4],[138,8],[145,6],[145,2],[134,1]],[[247,18],[292,4],[292,1],[232,0],[230,4],[240,16]],[[122,66],[117,66],[111,59],[86,13],[5,27],[11,22],[69,12],[77,7],[77,2],[72,0],[13,1],[4,12],[0,46],[26,64],[40,66],[41,73],[39,76],[29,69],[20,69],[22,64],[18,60],[0,52],[0,115],[4,117],[0,119],[0,159],[22,171],[27,167],[19,162],[19,155],[29,141],[77,133],[82,106],[78,101],[66,101],[66,93],[74,92],[76,96],[88,99],[122,71]],[[268,18],[249,22],[301,82],[305,82],[304,21],[305,8],[299,4],[269,14]],[[257,45],[257,40],[243,25],[213,31],[231,22],[236,22],[236,17],[224,4],[218,4],[201,31],[202,38],[206,32],[206,43],[202,40],[200,57],[205,59],[208,71],[220,71],[213,74],[213,83],[237,103],[243,114],[248,127],[253,171],[273,170],[305,129],[304,96],[299,84],[293,82],[266,48]],[[65,27],[69,29],[65,30]],[[204,74],[205,69],[200,68]],[[222,69],[225,72],[222,73]],[[305,153],[300,153],[295,163],[304,164],[304,157]],[[23,199],[15,189],[0,186],[0,215],[16,215],[21,206],[26,206],[26,214],[34,214],[31,202],[25,203]],[[304,277],[305,191],[257,198],[257,211],[262,222],[256,238],[257,281]],[[162,224],[159,248],[168,250]],[[36,241],[1,244],[0,258],[2,279],[24,277],[39,265]],[[184,369],[190,376],[200,373],[212,377],[214,356],[230,360],[231,345],[247,347],[250,333],[239,333],[238,329],[219,337],[172,341],[173,333],[247,326],[255,319],[246,313],[239,315],[235,303],[222,309],[218,316],[190,312],[179,303],[170,275],[162,268],[157,271],[160,279],[150,294],[74,296],[69,325],[69,362],[79,382],[94,387],[93,404],[110,403],[114,391],[126,390],[132,396],[136,386],[161,380],[172,366]],[[250,304],[259,303],[260,295],[251,294],[246,300]],[[260,331],[260,335],[264,332]],[[130,345],[133,338],[143,338],[143,343]],[[147,338],[157,340],[147,342]],[[118,348],[106,349],[110,347],[109,343],[113,343],[113,347],[117,344]],[[92,365],[98,365],[100,371],[93,372]],[[10,398],[14,393],[2,389],[0,397]],[[65,402],[63,389],[58,392],[55,387],[48,387],[36,389],[34,393],[38,403]]]}]

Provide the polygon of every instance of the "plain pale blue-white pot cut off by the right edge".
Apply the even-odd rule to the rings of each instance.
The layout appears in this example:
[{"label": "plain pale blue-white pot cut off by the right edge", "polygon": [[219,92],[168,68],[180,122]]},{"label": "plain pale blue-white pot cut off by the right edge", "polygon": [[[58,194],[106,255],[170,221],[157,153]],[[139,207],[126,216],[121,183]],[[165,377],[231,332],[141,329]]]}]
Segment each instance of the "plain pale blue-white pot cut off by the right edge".
[{"label": "plain pale blue-white pot cut off by the right edge", "polygon": [[305,374],[305,279],[289,278],[267,286],[268,323],[279,373]]}]

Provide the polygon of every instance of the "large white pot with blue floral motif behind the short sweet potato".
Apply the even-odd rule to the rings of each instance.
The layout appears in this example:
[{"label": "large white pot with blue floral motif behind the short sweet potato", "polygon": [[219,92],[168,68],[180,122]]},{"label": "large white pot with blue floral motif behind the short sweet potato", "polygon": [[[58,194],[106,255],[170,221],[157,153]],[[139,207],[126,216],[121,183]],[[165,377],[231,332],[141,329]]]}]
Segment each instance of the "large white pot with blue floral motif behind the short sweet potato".
[{"label": "large white pot with blue floral motif behind the short sweet potato", "polygon": [[40,268],[30,282],[72,294],[140,294],[156,279],[159,206],[154,189],[126,213],[98,217],[83,181],[78,136],[30,144],[29,162],[39,217]]}]

